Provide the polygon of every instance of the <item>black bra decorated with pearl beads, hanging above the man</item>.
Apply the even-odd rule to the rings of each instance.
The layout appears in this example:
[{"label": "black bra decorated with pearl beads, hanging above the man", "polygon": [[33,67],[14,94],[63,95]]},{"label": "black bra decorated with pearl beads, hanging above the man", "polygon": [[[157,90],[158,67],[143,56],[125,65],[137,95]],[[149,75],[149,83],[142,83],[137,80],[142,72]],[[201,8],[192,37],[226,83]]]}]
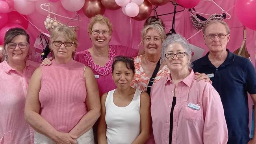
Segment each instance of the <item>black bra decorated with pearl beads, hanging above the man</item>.
[{"label": "black bra decorated with pearl beads, hanging above the man", "polygon": [[[193,8],[193,10],[195,11],[195,9]],[[201,30],[204,28],[204,26],[206,24],[208,24],[211,20],[223,20],[226,18],[226,13],[223,14],[213,14],[210,15],[209,18],[204,18],[198,14],[194,15],[191,11],[191,9],[189,9],[189,15],[190,15],[190,19],[192,22],[192,26],[193,28],[195,28],[196,30]]]}]

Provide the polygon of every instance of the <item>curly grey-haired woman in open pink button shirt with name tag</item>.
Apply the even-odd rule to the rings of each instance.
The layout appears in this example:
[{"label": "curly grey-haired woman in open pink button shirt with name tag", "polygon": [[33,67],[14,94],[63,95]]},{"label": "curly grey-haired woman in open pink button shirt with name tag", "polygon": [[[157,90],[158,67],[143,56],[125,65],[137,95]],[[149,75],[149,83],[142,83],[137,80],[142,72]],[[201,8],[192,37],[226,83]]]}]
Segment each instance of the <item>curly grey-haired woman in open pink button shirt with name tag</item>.
[{"label": "curly grey-haired woman in open pink button shirt with name tag", "polygon": [[171,74],[151,89],[151,114],[156,144],[226,144],[228,130],[218,92],[196,81],[191,48],[173,34],[163,42],[161,58]]}]

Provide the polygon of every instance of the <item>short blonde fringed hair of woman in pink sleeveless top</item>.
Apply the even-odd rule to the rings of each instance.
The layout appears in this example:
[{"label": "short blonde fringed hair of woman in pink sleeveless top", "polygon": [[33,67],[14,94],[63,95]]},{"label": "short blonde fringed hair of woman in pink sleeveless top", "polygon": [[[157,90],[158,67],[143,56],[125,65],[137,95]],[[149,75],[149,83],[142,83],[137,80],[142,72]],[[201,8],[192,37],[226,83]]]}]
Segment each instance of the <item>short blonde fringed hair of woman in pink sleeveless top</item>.
[{"label": "short blonde fringed hair of woman in pink sleeveless top", "polygon": [[[56,39],[58,39],[59,35],[63,35],[64,38],[69,41],[69,42],[74,42],[76,48],[78,46],[78,39],[76,36],[76,31],[74,31],[72,28],[69,28],[67,26],[58,26],[56,28],[54,28],[51,31],[51,35],[50,35],[50,48],[53,46],[53,41],[55,41]],[[51,50],[52,52],[52,50]],[[54,56],[53,52],[52,55]],[[74,57],[75,52],[72,53],[72,57]]]}]

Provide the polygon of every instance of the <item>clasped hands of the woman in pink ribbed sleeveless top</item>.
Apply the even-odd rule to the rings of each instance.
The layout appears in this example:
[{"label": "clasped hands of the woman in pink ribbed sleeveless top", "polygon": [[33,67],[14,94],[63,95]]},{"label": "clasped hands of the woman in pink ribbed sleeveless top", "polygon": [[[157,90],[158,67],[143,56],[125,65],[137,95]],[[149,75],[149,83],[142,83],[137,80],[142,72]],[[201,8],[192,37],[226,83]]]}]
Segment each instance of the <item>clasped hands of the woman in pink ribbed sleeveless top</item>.
[{"label": "clasped hands of the woman in pink ribbed sleeveless top", "polygon": [[56,144],[77,144],[76,139],[78,137],[71,135],[69,133],[61,133],[58,132],[56,135],[53,137],[53,141],[56,142]]}]

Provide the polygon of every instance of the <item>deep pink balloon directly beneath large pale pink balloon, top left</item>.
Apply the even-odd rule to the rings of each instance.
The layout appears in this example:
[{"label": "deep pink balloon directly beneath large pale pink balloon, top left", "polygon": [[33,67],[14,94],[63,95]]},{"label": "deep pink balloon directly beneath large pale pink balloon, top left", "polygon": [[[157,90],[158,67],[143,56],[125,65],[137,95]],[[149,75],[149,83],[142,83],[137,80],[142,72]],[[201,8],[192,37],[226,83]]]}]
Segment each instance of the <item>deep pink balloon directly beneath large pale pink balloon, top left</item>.
[{"label": "deep pink balloon directly beneath large pale pink balloon, top left", "polygon": [[[27,18],[26,15],[23,15],[25,18]],[[25,30],[28,28],[28,20],[26,20],[24,17],[22,17],[17,11],[12,11],[8,13],[8,24],[19,24],[24,28]]]}]

